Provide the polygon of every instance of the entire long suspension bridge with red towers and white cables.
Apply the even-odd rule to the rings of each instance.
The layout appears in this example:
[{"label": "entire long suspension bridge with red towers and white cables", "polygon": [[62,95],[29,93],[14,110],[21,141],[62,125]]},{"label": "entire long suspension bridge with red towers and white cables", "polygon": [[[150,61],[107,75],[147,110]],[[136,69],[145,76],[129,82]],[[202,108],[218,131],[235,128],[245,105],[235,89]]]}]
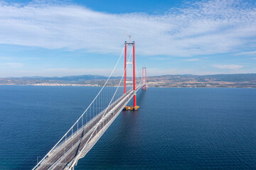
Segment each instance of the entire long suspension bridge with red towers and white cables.
[{"label": "entire long suspension bridge with red towers and white cables", "polygon": [[[131,46],[128,60],[127,46]],[[124,70],[122,77],[114,77],[114,72],[119,72],[117,65],[120,63],[123,53]],[[133,56],[133,60],[129,62],[131,56]],[[85,157],[122,110],[139,109],[136,95],[139,89],[146,90],[147,88],[146,67],[142,67],[142,77],[139,74],[136,77],[135,61],[135,42],[124,42],[117,64],[115,64],[110,77],[105,81],[97,96],[33,170],[74,169],[78,160]],[[127,77],[128,65],[132,65],[132,78]],[[132,85],[129,85],[131,82]],[[127,106],[132,98],[133,106]]]}]

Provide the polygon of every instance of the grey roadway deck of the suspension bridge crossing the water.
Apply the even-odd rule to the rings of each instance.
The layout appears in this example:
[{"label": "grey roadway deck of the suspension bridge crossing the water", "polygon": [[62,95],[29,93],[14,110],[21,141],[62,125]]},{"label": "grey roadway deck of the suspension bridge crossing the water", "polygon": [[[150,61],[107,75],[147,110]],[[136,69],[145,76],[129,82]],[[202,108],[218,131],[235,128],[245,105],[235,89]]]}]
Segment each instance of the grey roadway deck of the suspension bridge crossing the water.
[{"label": "grey roadway deck of the suspension bridge crossing the water", "polygon": [[[138,86],[136,91],[138,91],[142,86]],[[114,101],[112,105],[99,113],[95,118],[90,120],[89,123],[80,128],[72,137],[69,137],[63,143],[61,143],[56,149],[50,152],[49,156],[41,162],[41,164],[36,169],[68,169],[70,164],[73,163],[75,158],[80,154],[81,157],[85,157],[85,154],[90,151],[90,149],[95,145],[97,140],[103,135],[105,130],[111,125],[117,115],[122,111],[124,106],[131,100],[133,96],[133,91],[130,90],[127,94],[124,94],[117,101]],[[104,117],[102,118],[103,114]],[[102,119],[101,119],[102,118]],[[99,125],[97,125],[99,123]],[[95,128],[97,129],[95,130]],[[87,142],[87,140],[89,140]],[[87,143],[87,145],[86,145]],[[86,147],[85,147],[86,145]],[[83,149],[85,147],[85,149]],[[82,150],[83,149],[83,150]],[[77,163],[77,162],[76,162]]]}]

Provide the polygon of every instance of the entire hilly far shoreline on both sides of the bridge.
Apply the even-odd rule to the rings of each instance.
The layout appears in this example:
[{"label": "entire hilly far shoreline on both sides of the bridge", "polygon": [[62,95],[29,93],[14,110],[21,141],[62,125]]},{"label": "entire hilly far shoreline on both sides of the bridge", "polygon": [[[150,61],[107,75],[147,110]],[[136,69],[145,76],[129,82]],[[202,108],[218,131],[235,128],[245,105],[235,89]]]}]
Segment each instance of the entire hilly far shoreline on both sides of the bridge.
[{"label": "entire hilly far shoreline on both sides of the bridge", "polygon": [[[100,75],[80,75],[68,77],[7,77],[0,78],[0,85],[82,85],[102,86],[107,77]],[[113,84],[119,82],[120,77],[114,77]],[[256,74],[215,74],[215,75],[161,75],[147,77],[151,87],[247,87],[256,88]]]}]

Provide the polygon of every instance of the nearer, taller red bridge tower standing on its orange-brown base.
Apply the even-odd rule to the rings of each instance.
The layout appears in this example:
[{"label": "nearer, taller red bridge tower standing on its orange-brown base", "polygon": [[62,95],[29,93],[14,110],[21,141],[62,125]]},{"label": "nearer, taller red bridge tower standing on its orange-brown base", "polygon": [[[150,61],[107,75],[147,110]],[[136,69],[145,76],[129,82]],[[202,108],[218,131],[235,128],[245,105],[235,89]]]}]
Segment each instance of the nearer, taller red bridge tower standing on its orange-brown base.
[{"label": "nearer, taller red bridge tower standing on its orange-brown base", "polygon": [[133,98],[134,98],[134,103],[133,106],[125,106],[124,110],[127,111],[137,111],[139,109],[139,106],[136,104],[136,84],[135,84],[135,42],[129,42],[127,43],[124,41],[125,45],[125,50],[124,50],[124,94],[126,93],[126,77],[127,77],[127,45],[132,45],[133,47]]}]

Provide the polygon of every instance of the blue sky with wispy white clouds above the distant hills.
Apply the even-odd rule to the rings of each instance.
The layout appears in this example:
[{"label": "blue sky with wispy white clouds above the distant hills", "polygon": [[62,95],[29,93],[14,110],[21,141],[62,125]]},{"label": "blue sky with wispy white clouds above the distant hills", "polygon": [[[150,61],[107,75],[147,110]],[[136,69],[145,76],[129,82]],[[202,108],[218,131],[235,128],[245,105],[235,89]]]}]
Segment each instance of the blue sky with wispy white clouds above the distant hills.
[{"label": "blue sky with wispy white clouds above the distant hills", "polygon": [[0,77],[107,76],[125,33],[149,76],[256,73],[254,0],[0,0]]}]

